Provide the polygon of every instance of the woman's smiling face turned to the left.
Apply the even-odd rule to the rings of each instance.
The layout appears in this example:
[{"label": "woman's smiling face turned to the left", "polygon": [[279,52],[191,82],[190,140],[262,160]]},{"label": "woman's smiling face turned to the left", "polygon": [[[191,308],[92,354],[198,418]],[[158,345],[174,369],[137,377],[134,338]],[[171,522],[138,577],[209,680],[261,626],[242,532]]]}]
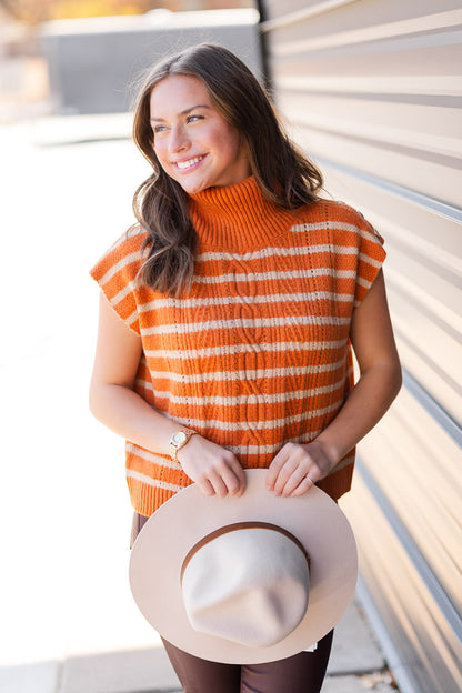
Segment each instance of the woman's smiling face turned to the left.
[{"label": "woman's smiling face turned to the left", "polygon": [[238,131],[214,108],[199,79],[165,78],[152,90],[150,107],[159,163],[188,193],[250,175]]}]

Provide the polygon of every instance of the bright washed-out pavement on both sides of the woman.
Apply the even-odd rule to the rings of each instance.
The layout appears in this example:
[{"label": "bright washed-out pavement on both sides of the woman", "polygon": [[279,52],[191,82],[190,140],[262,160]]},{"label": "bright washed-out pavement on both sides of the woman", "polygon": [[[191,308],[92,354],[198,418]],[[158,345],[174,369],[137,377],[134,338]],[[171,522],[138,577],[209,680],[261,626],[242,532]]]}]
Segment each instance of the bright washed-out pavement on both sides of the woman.
[{"label": "bright washed-out pavement on both sides of the woman", "polygon": [[[1,693],[180,691],[128,586],[123,442],[88,411],[88,270],[149,174],[129,134],[123,114],[0,127]],[[359,593],[322,691],[366,690],[395,687]]]}]

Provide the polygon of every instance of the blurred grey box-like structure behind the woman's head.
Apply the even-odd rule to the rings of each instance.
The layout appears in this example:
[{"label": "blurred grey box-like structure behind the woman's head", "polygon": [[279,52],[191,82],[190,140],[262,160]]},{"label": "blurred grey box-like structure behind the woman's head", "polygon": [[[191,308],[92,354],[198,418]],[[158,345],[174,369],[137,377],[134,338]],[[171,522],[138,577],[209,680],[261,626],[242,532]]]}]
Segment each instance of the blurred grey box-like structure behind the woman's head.
[{"label": "blurred grey box-like structure behind the woman's head", "polygon": [[261,73],[253,8],[71,19],[46,22],[40,31],[52,97],[62,114],[130,110],[140,73],[201,41],[229,48]]}]

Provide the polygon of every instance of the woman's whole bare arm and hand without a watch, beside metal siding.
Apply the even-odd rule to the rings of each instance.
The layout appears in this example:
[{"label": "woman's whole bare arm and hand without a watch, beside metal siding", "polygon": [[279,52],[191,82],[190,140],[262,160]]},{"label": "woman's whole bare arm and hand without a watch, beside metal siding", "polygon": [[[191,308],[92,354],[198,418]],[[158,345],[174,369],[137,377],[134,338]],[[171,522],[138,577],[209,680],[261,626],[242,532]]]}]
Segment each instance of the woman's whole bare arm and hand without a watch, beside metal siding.
[{"label": "woman's whole bare arm and hand without a watch, beside metal siding", "polygon": [[380,421],[401,388],[382,271],[354,311],[350,338],[360,378],[333,421],[307,445],[287,443],[273,459],[267,488],[275,495],[301,495],[331,472]]}]

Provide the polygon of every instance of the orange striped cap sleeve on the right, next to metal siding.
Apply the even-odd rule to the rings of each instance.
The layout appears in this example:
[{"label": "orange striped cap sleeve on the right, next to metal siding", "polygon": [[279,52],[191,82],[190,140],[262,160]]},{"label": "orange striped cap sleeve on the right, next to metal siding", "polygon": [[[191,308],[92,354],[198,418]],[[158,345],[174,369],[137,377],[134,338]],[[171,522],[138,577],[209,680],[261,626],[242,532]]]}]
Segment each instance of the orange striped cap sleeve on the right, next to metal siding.
[{"label": "orange striped cap sleeve on the right, next to metal siding", "polygon": [[355,225],[359,229],[359,253],[356,268],[356,284],[354,291],[354,308],[364,300],[369,289],[379,274],[386,252],[384,240],[372,224],[364,219],[361,212],[355,212]]}]

